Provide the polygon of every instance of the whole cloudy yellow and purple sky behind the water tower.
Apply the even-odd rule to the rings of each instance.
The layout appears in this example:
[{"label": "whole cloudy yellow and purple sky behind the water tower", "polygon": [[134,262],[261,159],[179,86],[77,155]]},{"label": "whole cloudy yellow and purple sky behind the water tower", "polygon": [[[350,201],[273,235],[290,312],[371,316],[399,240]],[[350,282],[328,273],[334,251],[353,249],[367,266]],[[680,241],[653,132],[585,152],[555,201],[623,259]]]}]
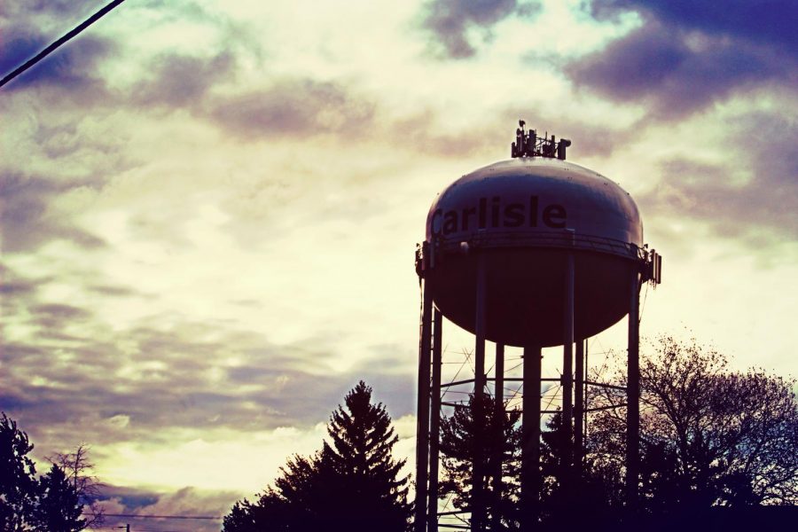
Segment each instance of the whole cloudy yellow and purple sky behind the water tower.
[{"label": "whole cloudy yellow and purple sky behind the water tower", "polygon": [[[102,5],[4,3],[0,72]],[[519,119],[637,201],[664,256],[644,337],[798,375],[795,20],[792,0],[128,0],[0,90],[0,410],[40,470],[88,443],[107,512],[222,515],[320,448],[359,379],[411,457],[415,245]]]}]

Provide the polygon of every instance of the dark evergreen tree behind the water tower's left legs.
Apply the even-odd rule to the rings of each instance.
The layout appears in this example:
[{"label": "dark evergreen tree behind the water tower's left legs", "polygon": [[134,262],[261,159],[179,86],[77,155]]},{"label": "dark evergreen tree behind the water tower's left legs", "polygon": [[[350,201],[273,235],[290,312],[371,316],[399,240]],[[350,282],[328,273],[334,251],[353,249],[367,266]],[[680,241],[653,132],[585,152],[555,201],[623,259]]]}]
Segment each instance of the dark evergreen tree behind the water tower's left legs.
[{"label": "dark evergreen tree behind the water tower's left legs", "polygon": [[[518,496],[520,492],[520,419],[519,411],[496,408],[489,395],[481,395],[477,408],[473,395],[467,405],[441,420],[441,454],[443,478],[440,497],[452,497],[458,510],[473,505],[472,471],[476,450],[481,450],[481,504],[487,516],[486,530],[518,529]],[[501,460],[501,468],[499,468]],[[494,482],[501,475],[503,489],[496,491]]]}]

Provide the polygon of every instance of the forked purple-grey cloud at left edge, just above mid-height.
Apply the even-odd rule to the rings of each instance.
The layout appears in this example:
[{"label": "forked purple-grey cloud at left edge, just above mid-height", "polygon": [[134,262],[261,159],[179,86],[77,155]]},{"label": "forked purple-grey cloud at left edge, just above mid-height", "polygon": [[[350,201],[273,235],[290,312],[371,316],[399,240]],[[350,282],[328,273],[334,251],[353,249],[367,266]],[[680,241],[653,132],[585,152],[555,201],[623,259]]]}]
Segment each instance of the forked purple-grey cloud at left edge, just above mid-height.
[{"label": "forked purple-grey cloud at left edge, just above mid-height", "polygon": [[57,182],[0,170],[0,228],[4,252],[30,251],[52,240],[97,248],[105,242],[69,223],[50,208],[57,195],[81,187],[97,187],[94,179]]}]

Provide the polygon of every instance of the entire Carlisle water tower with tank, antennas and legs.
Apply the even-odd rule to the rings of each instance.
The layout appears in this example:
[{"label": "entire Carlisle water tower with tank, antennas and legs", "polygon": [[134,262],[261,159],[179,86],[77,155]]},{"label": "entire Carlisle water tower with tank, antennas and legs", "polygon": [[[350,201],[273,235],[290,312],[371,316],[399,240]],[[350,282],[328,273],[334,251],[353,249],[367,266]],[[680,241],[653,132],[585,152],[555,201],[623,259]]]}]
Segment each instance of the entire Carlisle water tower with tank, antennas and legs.
[{"label": "entire Carlisle water tower with tank, antennas and legs", "polygon": [[[512,159],[479,168],[441,192],[426,218],[416,270],[423,286],[419,343],[417,532],[438,529],[442,389],[442,317],[473,333],[473,395],[485,393],[486,341],[496,343],[496,401],[504,408],[505,346],[523,348],[520,506],[532,529],[541,488],[541,349],[563,346],[564,440],[561,464],[581,463],[584,340],[629,319],[627,496],[638,485],[640,287],[659,284],[661,257],[643,244],[643,224],[629,193],[567,162],[567,139],[538,137],[520,121]],[[574,350],[574,346],[576,349]],[[574,352],[575,351],[575,352]],[[574,362],[576,367],[574,367]],[[576,389],[574,389],[576,387]],[[574,401],[575,397],[575,401]],[[480,402],[476,401],[479,405]],[[479,451],[477,451],[479,452]],[[471,529],[485,526],[485,472],[473,461]]]}]

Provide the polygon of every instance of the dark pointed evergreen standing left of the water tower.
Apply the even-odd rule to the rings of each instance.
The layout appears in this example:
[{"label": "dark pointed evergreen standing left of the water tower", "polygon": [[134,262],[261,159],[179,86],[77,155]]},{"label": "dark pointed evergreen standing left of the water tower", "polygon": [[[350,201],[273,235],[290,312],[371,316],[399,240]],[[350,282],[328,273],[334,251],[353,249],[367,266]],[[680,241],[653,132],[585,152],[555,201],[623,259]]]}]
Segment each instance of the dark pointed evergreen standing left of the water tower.
[{"label": "dark pointed evergreen standing left of the water tower", "polygon": [[330,443],[309,458],[294,456],[274,487],[255,501],[236,503],[224,532],[385,530],[403,532],[411,515],[404,460],[391,451],[398,441],[382,403],[360,381],[332,412]]}]

